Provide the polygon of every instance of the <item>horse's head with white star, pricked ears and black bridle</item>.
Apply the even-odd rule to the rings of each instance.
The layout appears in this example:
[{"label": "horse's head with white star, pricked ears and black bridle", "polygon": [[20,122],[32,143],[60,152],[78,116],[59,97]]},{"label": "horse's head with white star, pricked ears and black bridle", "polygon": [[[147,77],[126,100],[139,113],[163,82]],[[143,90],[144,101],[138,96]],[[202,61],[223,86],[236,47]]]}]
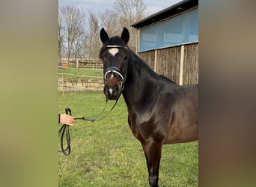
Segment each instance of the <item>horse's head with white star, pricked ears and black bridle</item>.
[{"label": "horse's head with white star, pricked ears and black bridle", "polygon": [[118,100],[124,90],[129,60],[129,31],[124,28],[121,37],[111,37],[104,28],[100,30],[100,58],[103,61],[104,94],[106,99]]}]

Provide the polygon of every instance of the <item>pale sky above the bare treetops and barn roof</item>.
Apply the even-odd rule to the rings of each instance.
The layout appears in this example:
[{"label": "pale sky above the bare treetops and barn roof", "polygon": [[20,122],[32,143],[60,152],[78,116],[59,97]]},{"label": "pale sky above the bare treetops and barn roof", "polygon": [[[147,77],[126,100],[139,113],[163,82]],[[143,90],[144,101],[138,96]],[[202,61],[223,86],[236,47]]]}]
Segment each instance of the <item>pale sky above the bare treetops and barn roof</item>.
[{"label": "pale sky above the bare treetops and barn roof", "polygon": [[[144,4],[147,5],[146,15],[150,16],[160,10],[170,7],[181,0],[144,0]],[[79,7],[82,11],[92,11],[94,13],[103,12],[106,9],[114,9],[115,0],[58,0],[58,6],[70,5]]]}]

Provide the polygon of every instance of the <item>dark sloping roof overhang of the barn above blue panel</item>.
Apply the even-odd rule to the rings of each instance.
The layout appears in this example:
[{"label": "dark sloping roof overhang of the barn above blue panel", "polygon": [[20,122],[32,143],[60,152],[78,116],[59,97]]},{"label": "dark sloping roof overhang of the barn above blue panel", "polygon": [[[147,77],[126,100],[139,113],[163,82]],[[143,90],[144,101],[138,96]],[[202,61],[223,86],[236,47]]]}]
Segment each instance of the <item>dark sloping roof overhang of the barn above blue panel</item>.
[{"label": "dark sloping roof overhang of the barn above blue panel", "polygon": [[168,17],[182,13],[194,7],[198,7],[198,0],[183,0],[177,4],[172,5],[171,7],[167,7],[157,13],[153,13],[152,15],[147,16],[146,18],[133,23],[131,26],[137,29],[143,28],[147,25],[162,21],[163,19],[167,19]]}]

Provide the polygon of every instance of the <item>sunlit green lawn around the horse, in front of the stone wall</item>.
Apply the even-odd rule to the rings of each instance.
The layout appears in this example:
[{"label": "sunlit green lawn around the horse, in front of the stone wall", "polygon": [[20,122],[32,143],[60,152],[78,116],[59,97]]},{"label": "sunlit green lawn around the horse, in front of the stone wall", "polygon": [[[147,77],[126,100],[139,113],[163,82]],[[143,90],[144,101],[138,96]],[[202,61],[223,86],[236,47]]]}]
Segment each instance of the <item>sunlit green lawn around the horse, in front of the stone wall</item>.
[{"label": "sunlit green lawn around the horse, in front of the stone wall", "polygon": [[[109,101],[106,111],[114,102]],[[94,117],[105,105],[103,91],[59,93],[58,111]],[[70,127],[71,153],[59,153],[59,186],[148,186],[141,144],[127,123],[121,96],[108,117],[94,123],[77,120]],[[159,186],[198,186],[198,142],[164,145]]]}]

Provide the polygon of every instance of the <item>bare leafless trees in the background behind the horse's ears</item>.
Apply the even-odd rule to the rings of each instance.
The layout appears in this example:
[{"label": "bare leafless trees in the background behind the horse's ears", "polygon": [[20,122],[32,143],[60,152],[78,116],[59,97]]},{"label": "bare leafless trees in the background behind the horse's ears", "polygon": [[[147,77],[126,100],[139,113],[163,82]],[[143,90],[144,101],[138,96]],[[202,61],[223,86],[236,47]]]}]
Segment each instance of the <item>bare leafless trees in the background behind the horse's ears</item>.
[{"label": "bare leafless trees in the background behind the horse's ears", "polygon": [[115,0],[114,10],[102,13],[83,13],[72,6],[60,7],[58,24],[58,54],[70,58],[98,58],[101,42],[100,29],[109,36],[120,35],[124,27],[129,29],[129,47],[137,52],[138,35],[131,28],[134,22],[144,18],[147,6],[143,0]]}]

